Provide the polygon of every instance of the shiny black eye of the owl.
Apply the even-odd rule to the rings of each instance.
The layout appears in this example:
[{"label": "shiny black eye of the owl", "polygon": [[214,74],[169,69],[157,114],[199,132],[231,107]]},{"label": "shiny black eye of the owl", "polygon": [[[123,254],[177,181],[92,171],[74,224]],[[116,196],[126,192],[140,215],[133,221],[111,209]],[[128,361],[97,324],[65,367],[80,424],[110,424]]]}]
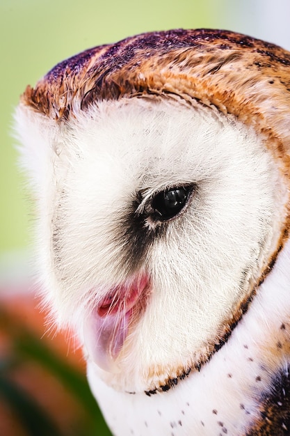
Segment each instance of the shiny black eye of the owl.
[{"label": "shiny black eye of the owl", "polygon": [[178,214],[186,205],[193,187],[176,187],[166,189],[156,194],[151,201],[151,207],[156,212],[157,218],[166,221]]}]

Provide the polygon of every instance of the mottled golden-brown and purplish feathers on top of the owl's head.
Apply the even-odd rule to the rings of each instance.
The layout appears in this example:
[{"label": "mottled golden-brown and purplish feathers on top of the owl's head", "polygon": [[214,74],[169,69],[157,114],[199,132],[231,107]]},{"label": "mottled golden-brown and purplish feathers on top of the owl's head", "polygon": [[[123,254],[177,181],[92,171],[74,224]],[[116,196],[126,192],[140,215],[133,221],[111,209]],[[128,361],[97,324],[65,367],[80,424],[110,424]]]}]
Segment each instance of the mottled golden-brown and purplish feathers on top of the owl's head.
[{"label": "mottled golden-brown and purplish feathers on top of the owl's head", "polygon": [[28,86],[22,103],[66,120],[98,100],[150,94],[234,114],[271,139],[290,167],[290,53],[239,33],[179,29],[88,49]]}]

